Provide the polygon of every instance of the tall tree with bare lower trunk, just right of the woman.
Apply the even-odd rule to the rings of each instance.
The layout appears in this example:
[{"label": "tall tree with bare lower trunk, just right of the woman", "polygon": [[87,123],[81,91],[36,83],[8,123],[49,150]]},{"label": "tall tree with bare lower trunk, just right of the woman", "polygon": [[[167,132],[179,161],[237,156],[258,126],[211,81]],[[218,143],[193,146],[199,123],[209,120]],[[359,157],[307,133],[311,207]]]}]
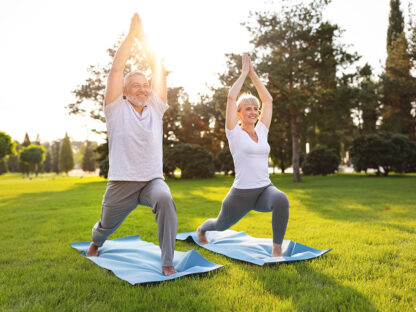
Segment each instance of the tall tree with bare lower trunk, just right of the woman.
[{"label": "tall tree with bare lower trunk, just right of the woman", "polygon": [[[350,91],[345,83],[342,84],[342,79],[340,87],[337,86],[336,70],[338,66],[355,62],[357,56],[346,53],[336,44],[340,32],[336,25],[322,21],[324,2],[316,0],[307,5],[282,6],[278,13],[257,12],[255,22],[246,25],[253,36],[259,69],[267,73],[273,111],[279,112],[280,118],[286,118],[290,124],[295,182],[301,181],[299,143],[308,131],[308,125],[304,124],[308,120],[306,115],[314,113],[311,115],[315,122],[312,130],[315,133],[316,128],[320,128],[321,136],[328,134],[331,142],[328,145],[339,145],[344,128],[352,124]],[[346,95],[348,101],[345,103],[342,99]],[[338,129],[338,133],[334,131]],[[281,130],[271,127],[269,138],[279,136],[277,131]],[[320,138],[321,141],[324,139]]]}]

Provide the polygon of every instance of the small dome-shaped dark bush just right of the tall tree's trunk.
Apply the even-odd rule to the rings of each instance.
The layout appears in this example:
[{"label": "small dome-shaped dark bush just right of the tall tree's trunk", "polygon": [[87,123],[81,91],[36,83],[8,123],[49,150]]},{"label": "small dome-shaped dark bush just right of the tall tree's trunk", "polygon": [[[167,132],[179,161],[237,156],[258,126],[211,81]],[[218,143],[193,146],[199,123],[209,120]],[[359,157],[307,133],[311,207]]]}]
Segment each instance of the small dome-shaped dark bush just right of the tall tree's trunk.
[{"label": "small dome-shaped dark bush just right of the tall tree's trunk", "polygon": [[339,157],[333,149],[324,146],[314,147],[302,161],[302,172],[305,175],[327,175],[338,170]]}]

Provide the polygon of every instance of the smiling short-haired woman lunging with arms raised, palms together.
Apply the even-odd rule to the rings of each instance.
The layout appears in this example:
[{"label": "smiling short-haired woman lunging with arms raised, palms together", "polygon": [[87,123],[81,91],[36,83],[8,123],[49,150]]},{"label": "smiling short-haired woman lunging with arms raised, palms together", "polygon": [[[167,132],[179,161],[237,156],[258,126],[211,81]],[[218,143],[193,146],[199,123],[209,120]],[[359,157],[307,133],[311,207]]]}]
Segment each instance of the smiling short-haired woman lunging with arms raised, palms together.
[{"label": "smiling short-haired woman lunging with arms raised, palms together", "polygon": [[[228,93],[225,126],[235,166],[234,184],[222,202],[218,217],[206,220],[197,229],[197,236],[201,244],[207,244],[207,231],[224,231],[250,210],[272,211],[272,256],[281,257],[281,246],[289,218],[289,201],[269,178],[270,146],[267,143],[267,134],[272,120],[273,99],[254,71],[247,54],[243,55],[242,63],[241,75]],[[247,76],[251,78],[263,103],[261,114],[256,97],[243,94],[236,101]],[[237,124],[238,120],[241,126]]]}]

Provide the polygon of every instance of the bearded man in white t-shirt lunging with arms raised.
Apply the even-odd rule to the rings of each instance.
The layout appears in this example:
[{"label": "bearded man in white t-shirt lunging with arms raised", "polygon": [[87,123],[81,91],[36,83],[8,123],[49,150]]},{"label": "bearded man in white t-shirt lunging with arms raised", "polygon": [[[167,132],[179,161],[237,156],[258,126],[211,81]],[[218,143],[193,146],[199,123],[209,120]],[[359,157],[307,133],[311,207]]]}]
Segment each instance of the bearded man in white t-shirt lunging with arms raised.
[{"label": "bearded man in white t-shirt lunging with arms raised", "polygon": [[[152,89],[145,75],[123,70],[133,41],[144,48],[152,70]],[[101,219],[92,229],[87,256],[98,256],[98,248],[138,204],[156,214],[162,272],[176,273],[173,254],[176,207],[163,180],[162,117],[168,105],[166,71],[149,49],[139,15],[134,14],[130,31],[118,49],[108,76],[104,113],[108,131],[110,169]]]}]

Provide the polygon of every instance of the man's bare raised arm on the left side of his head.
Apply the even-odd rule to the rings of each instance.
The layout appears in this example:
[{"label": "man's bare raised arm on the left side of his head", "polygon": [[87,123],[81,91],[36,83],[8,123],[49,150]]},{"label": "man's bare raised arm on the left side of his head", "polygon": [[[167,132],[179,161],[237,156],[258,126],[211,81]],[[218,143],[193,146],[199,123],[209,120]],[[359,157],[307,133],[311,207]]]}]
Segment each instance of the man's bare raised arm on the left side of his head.
[{"label": "man's bare raised arm on the left side of his head", "polygon": [[131,45],[135,38],[138,38],[140,32],[141,21],[139,15],[133,15],[130,24],[129,33],[114,56],[113,65],[107,79],[107,88],[105,90],[105,105],[111,104],[123,93],[124,87],[124,67],[130,55]]}]

